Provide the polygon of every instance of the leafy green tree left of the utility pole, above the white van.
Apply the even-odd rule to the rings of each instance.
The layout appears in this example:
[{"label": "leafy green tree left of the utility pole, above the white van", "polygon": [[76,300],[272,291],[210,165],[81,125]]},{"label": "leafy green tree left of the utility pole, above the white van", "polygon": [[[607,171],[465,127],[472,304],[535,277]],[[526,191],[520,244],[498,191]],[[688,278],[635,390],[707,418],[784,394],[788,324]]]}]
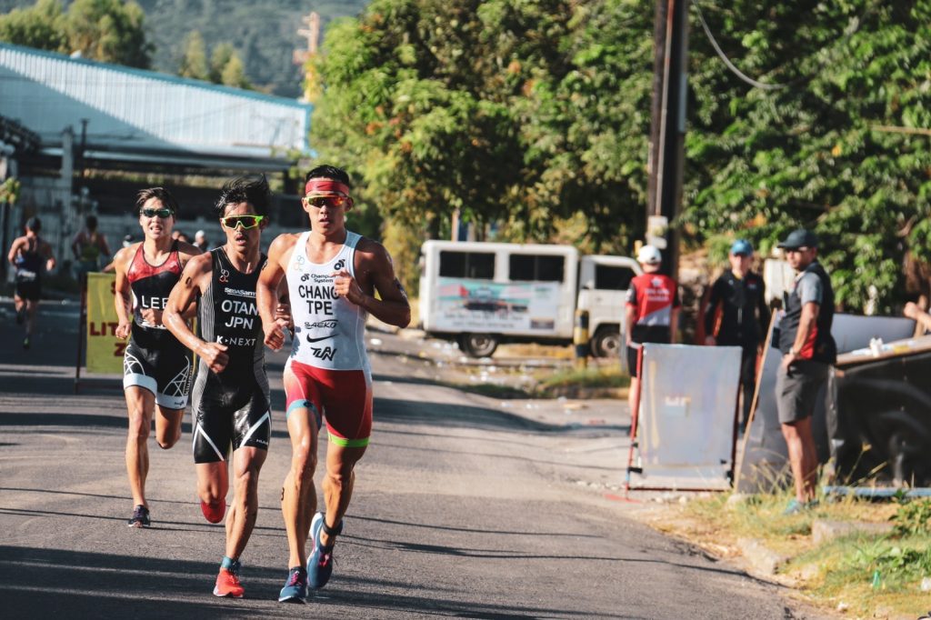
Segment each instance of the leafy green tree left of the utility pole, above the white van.
[{"label": "leafy green tree left of the utility pole, above the white van", "polygon": [[[518,241],[544,241],[581,212],[577,242],[627,247],[645,188],[627,157],[645,155],[649,115],[630,100],[623,51],[649,65],[650,41],[603,42],[614,34],[602,28],[628,25],[618,8],[641,13],[631,2],[376,0],[328,31],[313,143],[356,171],[386,218],[426,223],[433,236],[446,236],[456,209],[479,235],[495,222]],[[648,97],[649,75],[631,79]],[[624,115],[640,135],[614,129]]]}]

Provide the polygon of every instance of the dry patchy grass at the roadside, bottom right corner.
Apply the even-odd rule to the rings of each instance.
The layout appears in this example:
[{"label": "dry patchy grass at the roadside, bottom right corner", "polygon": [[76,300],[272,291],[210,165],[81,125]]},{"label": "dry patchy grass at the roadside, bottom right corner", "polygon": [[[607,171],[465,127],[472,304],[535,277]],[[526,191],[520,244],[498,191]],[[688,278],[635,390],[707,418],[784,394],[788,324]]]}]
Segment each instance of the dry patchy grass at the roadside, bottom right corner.
[{"label": "dry patchy grass at the roadside, bottom right corner", "polygon": [[[699,525],[677,533],[711,548],[734,548],[740,538],[760,540],[787,559],[780,574],[816,602],[840,606],[852,617],[915,618],[931,609],[931,592],[921,589],[925,577],[931,580],[931,500],[845,497],[822,500],[815,509],[792,516],[782,514],[789,501],[786,492],[727,500],[721,494],[684,505],[682,516]],[[816,546],[811,535],[816,519],[891,522],[894,529],[852,533]]]}]

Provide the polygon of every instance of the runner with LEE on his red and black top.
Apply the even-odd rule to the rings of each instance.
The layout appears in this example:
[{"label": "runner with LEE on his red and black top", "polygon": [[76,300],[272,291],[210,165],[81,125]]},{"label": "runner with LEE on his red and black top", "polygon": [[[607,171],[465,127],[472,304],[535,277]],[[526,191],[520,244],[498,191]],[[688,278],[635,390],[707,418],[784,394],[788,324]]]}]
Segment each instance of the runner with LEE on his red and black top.
[{"label": "runner with LEE on his red and black top", "polygon": [[168,190],[142,190],[136,209],[144,240],[116,252],[114,303],[119,317],[116,337],[129,338],[123,357],[129,417],[126,468],[134,506],[129,527],[147,528],[151,519],[145,478],[152,416],[155,413],[155,440],[168,450],[181,438],[191,377],[191,357],[163,324],[162,312],[184,265],[200,250],[171,238],[178,202]]}]

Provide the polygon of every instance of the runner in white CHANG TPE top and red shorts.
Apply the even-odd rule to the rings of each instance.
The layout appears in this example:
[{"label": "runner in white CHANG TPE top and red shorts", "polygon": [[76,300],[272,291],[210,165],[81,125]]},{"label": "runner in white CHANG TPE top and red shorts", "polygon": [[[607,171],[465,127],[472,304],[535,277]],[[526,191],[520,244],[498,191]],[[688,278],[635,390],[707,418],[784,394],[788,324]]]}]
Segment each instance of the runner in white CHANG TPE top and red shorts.
[{"label": "runner in white CHANG TPE top and red shorts", "polygon": [[[265,344],[278,350],[285,326],[276,318],[276,291],[281,277],[288,278],[294,338],[284,383],[292,456],[281,511],[290,557],[288,581],[278,600],[294,602],[304,602],[308,581],[318,588],[330,578],[333,545],[352,495],[353,468],[369,444],[366,318],[371,314],[400,328],[411,322],[411,306],[388,252],[345,228],[346,211],[353,207],[345,171],[314,168],[307,173],[304,194],[311,230],[280,235],[272,242],[256,290]],[[314,470],[321,418],[330,445],[323,478],[326,512],[317,513]],[[309,556],[304,549],[308,533]]]}]

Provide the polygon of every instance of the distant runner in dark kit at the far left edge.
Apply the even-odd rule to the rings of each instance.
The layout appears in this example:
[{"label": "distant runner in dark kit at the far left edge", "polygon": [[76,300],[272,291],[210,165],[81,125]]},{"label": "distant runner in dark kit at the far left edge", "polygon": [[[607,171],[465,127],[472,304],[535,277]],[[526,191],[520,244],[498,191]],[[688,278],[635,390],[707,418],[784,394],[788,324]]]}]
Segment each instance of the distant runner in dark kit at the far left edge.
[{"label": "distant runner in dark kit at the far left edge", "polygon": [[16,322],[25,323],[26,335],[22,348],[30,347],[35,323],[35,312],[42,297],[42,275],[55,268],[55,255],[47,241],[39,237],[42,221],[36,217],[26,222],[26,234],[13,240],[7,260],[16,269]]}]

